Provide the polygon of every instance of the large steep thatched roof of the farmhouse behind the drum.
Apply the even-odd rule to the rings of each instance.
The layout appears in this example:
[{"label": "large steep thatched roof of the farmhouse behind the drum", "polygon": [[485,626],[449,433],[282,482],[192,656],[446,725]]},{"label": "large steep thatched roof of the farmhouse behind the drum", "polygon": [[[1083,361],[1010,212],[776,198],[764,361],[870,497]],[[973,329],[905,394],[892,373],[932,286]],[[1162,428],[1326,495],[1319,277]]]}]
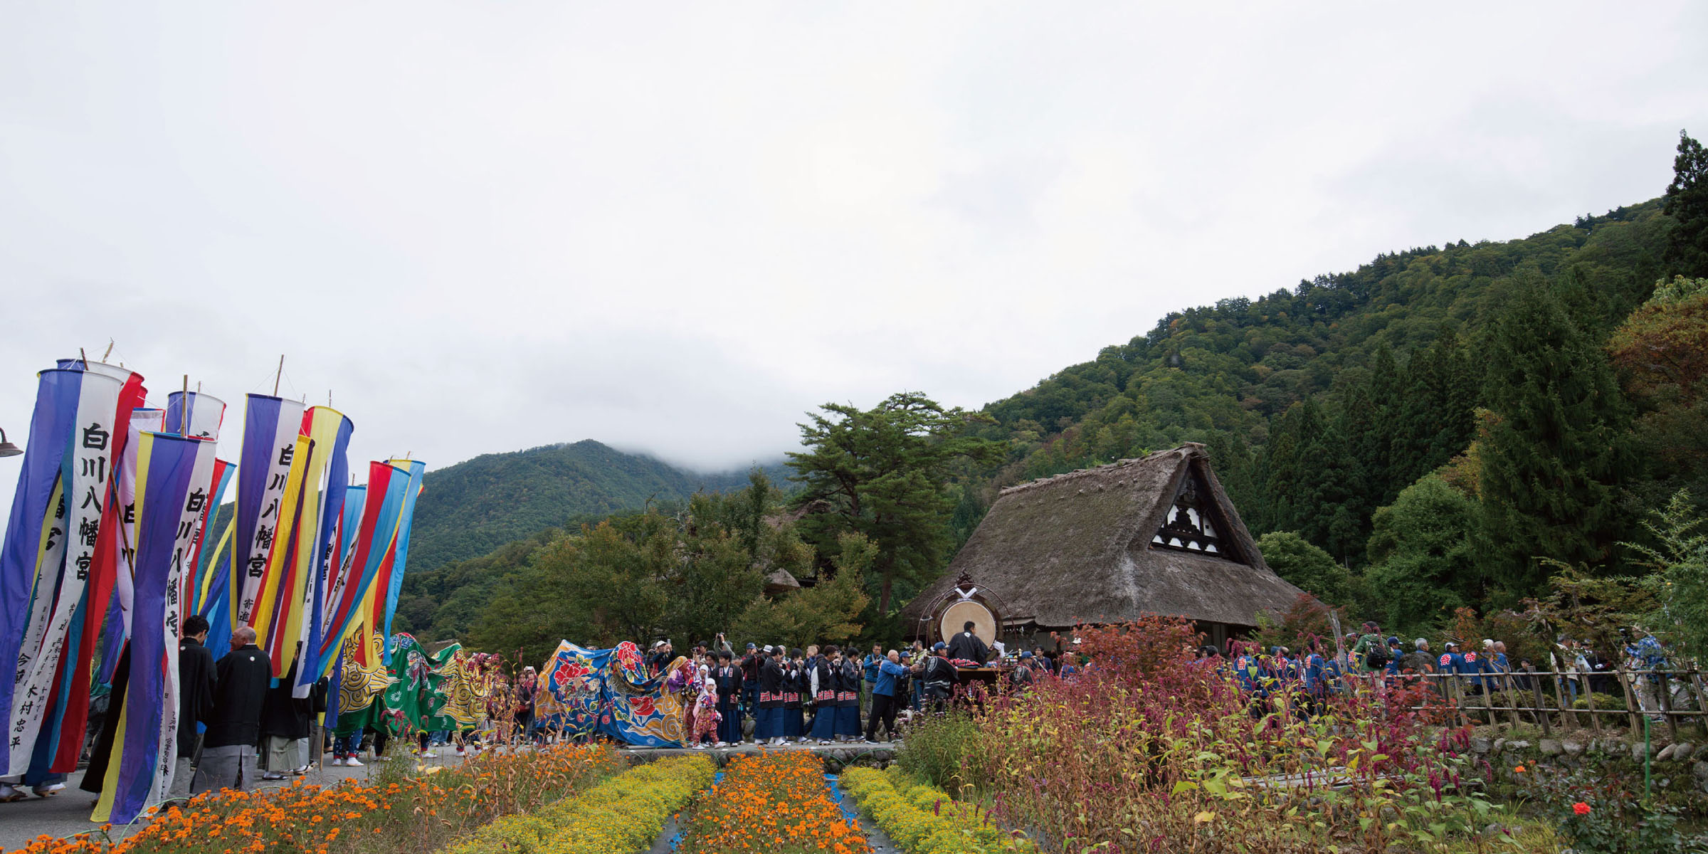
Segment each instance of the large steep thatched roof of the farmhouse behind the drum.
[{"label": "large steep thatched roof of the farmhouse behind the drum", "polygon": [[1301,593],[1264,564],[1201,444],[1004,488],[904,618],[931,617],[962,574],[1001,600],[1004,623],[1044,629],[1143,613],[1252,627]]}]

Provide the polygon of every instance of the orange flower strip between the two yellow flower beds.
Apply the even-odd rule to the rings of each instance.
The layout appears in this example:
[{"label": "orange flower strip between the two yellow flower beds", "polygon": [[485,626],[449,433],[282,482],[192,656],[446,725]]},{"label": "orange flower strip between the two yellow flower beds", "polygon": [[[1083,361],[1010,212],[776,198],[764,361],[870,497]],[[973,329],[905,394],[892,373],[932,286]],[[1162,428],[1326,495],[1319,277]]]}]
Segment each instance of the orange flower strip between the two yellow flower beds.
[{"label": "orange flower strip between the two yellow flower beds", "polygon": [[806,752],[733,757],[681,827],[683,854],[871,852],[830,799],[823,763]]}]

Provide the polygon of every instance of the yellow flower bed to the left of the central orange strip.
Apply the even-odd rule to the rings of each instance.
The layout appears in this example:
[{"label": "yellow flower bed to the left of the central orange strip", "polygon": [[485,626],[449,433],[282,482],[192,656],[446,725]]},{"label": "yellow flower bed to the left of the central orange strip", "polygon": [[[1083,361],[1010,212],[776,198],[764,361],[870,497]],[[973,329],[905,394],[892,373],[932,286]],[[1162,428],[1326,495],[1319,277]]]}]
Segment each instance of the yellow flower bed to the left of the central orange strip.
[{"label": "yellow flower bed to the left of the central orange strip", "polygon": [[663,758],[531,815],[500,818],[446,854],[620,854],[646,851],[676,810],[712,781],[705,757]]}]

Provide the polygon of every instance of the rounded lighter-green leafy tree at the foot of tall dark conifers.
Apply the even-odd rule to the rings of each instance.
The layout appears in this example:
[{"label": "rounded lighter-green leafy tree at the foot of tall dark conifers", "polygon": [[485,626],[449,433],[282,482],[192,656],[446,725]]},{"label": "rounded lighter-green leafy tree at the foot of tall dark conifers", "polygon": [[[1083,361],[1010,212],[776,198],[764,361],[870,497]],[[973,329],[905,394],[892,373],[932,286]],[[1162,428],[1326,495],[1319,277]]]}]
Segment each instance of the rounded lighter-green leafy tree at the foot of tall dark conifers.
[{"label": "rounded lighter-green leafy tree at the foot of tall dark conifers", "polygon": [[1477,506],[1428,475],[1372,518],[1365,577],[1390,632],[1419,632],[1479,601]]}]

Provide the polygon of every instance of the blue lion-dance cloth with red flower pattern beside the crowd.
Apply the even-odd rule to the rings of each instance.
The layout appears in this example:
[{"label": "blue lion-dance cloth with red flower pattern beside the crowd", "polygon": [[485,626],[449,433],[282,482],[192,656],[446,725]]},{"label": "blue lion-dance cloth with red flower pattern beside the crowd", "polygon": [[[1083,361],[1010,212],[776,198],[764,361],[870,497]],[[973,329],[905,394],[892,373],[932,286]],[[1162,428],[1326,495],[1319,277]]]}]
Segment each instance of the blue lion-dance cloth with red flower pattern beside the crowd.
[{"label": "blue lion-dance cloth with red flower pattern beside the crowd", "polygon": [[603,734],[637,746],[681,746],[687,736],[681,699],[663,676],[647,675],[632,640],[613,649],[560,640],[540,670],[540,688],[536,721],[569,736]]}]

